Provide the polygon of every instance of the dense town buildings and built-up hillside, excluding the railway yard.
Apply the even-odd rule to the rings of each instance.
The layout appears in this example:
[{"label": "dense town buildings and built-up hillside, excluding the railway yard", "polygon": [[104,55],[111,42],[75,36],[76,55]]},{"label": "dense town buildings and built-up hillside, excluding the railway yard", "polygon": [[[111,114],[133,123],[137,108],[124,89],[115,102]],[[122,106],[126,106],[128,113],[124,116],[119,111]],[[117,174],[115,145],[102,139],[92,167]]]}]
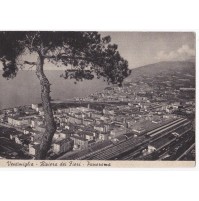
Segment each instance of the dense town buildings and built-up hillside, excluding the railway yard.
[{"label": "dense town buildings and built-up hillside, excluding the railway yard", "polygon": [[[139,138],[181,117],[194,128],[195,79],[180,72],[155,78],[142,76],[126,81],[122,87],[110,86],[70,103],[52,105],[57,130],[48,158],[70,158],[85,150],[87,154],[88,150],[103,150],[130,136]],[[4,109],[0,122],[18,131],[10,132],[10,139],[23,147],[24,156],[34,158],[45,131],[41,104]],[[148,149],[153,151],[154,146]],[[7,157],[6,153],[2,157]]]}]

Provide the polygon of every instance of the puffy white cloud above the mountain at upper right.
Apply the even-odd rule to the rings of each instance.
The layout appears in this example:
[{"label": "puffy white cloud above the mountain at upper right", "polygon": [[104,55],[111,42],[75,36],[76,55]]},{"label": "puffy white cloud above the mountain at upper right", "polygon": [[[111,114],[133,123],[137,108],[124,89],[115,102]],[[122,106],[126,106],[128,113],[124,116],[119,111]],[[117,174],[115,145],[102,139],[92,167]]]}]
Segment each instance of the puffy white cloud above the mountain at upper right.
[{"label": "puffy white cloud above the mountain at upper right", "polygon": [[182,45],[182,47],[175,51],[160,51],[156,55],[156,59],[159,61],[184,61],[194,57],[195,50],[191,49],[188,45]]}]

